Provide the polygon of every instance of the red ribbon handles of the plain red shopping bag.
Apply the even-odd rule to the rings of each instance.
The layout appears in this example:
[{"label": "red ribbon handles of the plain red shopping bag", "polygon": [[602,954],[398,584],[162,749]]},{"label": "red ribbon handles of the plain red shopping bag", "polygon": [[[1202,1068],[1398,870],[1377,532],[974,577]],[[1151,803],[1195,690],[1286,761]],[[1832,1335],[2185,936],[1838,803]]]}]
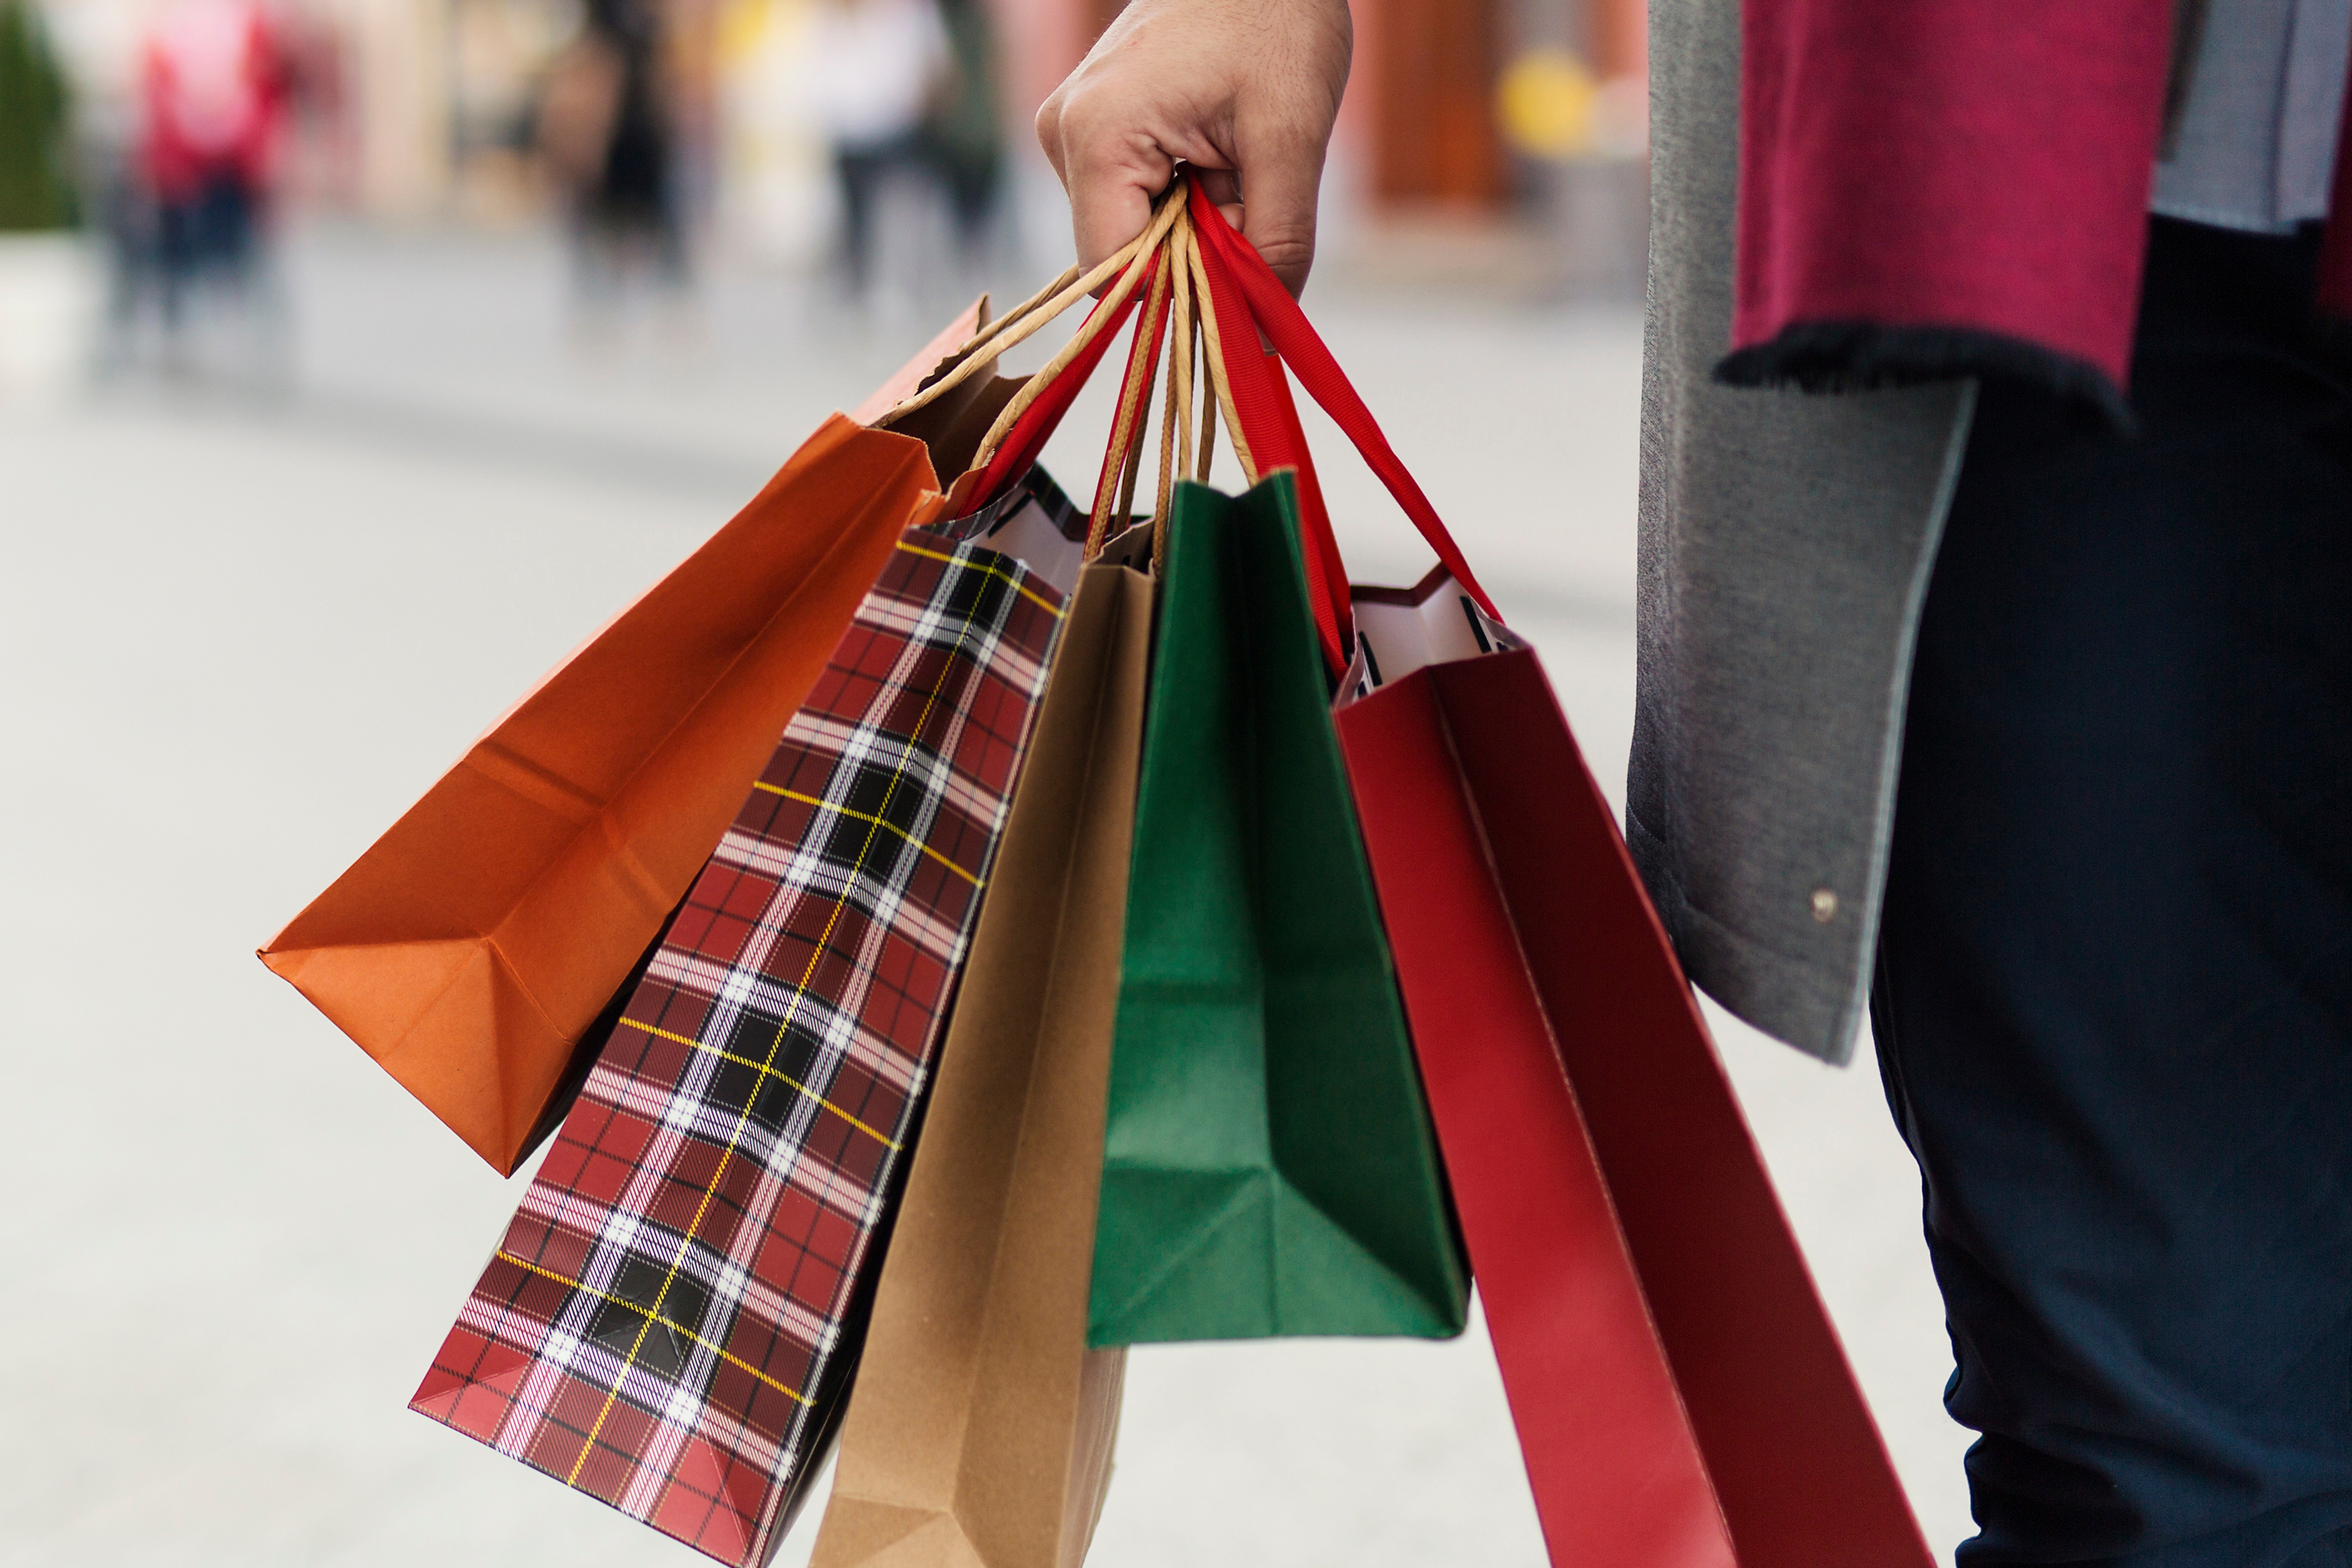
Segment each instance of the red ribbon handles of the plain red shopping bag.
[{"label": "red ribbon handles of the plain red shopping bag", "polygon": [[[1289,463],[1298,468],[1301,527],[1312,534],[1308,541],[1308,574],[1310,578],[1324,578],[1317,595],[1317,621],[1331,616],[1327,651],[1338,642],[1336,628],[1348,625],[1348,583],[1341,569],[1338,538],[1331,534],[1331,515],[1322,505],[1322,487],[1312,477],[1312,458],[1305,451],[1298,411],[1289,400],[1289,388],[1282,383],[1284,364],[1298,376],[1298,386],[1348,435],[1371,473],[1378,475],[1388,494],[1404,508],[1404,515],[1414,520],[1421,538],[1437,552],[1446,574],[1461,583],[1463,592],[1482,611],[1503,621],[1494,609],[1494,599],[1486,597],[1486,590],[1479,588],[1477,576],[1470,571],[1470,562],[1463,559],[1461,545],[1454,543],[1454,534],[1437,517],[1437,508],[1430,505],[1421,484],[1406,473],[1381,433],[1378,421],[1374,421],[1371,409],[1364,407],[1364,400],[1338,367],[1338,360],[1331,357],[1331,350],[1317,336],[1298,301],[1282,287],[1282,280],[1265,266],[1256,247],[1232,230],[1225,214],[1200,188],[1200,181],[1188,174],[1185,186],[1190,188],[1192,233],[1197,235],[1202,259],[1209,263],[1204,270],[1211,308],[1223,327],[1221,336],[1232,346],[1237,327],[1247,317],[1249,327],[1263,331],[1263,341],[1270,343],[1265,355],[1235,355],[1228,348],[1228,376],[1235,369],[1242,371],[1232,376],[1235,414],[1249,430],[1254,447],[1270,449],[1258,454],[1261,465],[1279,468]],[[1242,341],[1247,343],[1247,339]],[[1263,364],[1261,374],[1251,374],[1247,364],[1251,360]],[[1322,571],[1317,571],[1317,564]]]}]

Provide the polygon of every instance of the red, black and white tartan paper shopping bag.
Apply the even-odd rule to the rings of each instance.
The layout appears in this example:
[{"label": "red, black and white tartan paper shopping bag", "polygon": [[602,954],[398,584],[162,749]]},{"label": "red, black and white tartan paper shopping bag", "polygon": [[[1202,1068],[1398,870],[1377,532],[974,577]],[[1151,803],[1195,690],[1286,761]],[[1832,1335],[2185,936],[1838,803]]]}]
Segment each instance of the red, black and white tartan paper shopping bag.
[{"label": "red, black and white tartan paper shopping bag", "polygon": [[409,1401],[724,1563],[837,1415],[1061,595],[913,531]]}]

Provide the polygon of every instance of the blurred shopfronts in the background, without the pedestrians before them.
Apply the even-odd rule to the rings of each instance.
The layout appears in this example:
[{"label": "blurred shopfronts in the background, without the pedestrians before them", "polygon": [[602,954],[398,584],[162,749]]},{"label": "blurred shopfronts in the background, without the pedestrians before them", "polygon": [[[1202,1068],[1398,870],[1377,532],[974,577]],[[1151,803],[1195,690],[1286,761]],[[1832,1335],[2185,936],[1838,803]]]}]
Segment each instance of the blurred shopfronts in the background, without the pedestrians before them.
[{"label": "blurred shopfronts in the background, without the pedestrians before them", "polygon": [[[682,190],[701,230],[809,263],[835,223],[804,103],[811,16],[830,0],[654,0]],[[1122,0],[988,0],[1007,146]],[[125,141],[143,19],[169,0],[45,0],[82,89],[85,136]],[[287,186],[374,219],[539,219],[534,125],[586,0],[270,0],[303,94]],[[1642,0],[1355,0],[1357,61],[1327,188],[1334,249],[1364,268],[1536,280],[1639,273]],[[1362,244],[1357,244],[1362,242]]]}]

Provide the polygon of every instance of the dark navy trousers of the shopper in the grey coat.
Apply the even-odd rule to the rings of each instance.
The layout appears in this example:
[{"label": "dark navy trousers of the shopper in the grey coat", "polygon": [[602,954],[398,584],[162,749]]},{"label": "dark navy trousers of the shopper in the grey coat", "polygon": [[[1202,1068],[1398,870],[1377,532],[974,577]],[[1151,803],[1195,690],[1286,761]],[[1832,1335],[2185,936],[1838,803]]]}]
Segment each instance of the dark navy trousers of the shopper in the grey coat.
[{"label": "dark navy trousers of the shopper in the grey coat", "polygon": [[2136,435],[1985,386],[1872,1023],[1964,1568],[2352,1563],[2352,357],[2317,235],[2152,223]]}]

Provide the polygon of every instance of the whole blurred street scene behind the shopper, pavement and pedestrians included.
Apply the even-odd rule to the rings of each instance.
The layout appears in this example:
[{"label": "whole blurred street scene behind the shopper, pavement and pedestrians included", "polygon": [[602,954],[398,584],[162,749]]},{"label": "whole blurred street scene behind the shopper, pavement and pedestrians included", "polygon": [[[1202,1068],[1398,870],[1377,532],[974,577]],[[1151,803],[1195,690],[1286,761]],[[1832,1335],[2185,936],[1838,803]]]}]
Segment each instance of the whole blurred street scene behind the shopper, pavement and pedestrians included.
[{"label": "whole blurred street scene behind the shopper, pavement and pedestrians included", "polygon": [[[828,411],[1070,259],[1028,122],[1115,9],[0,0],[0,1561],[699,1561],[402,1408],[522,1178],[252,950]],[[1639,0],[1355,16],[1308,308],[1621,799]],[[1096,388],[1073,491],[1105,430]],[[1310,440],[1357,574],[1414,581]],[[1710,1018],[1947,1554],[1867,1041]],[[1534,1568],[1484,1338],[1136,1352],[1091,1561]]]}]

